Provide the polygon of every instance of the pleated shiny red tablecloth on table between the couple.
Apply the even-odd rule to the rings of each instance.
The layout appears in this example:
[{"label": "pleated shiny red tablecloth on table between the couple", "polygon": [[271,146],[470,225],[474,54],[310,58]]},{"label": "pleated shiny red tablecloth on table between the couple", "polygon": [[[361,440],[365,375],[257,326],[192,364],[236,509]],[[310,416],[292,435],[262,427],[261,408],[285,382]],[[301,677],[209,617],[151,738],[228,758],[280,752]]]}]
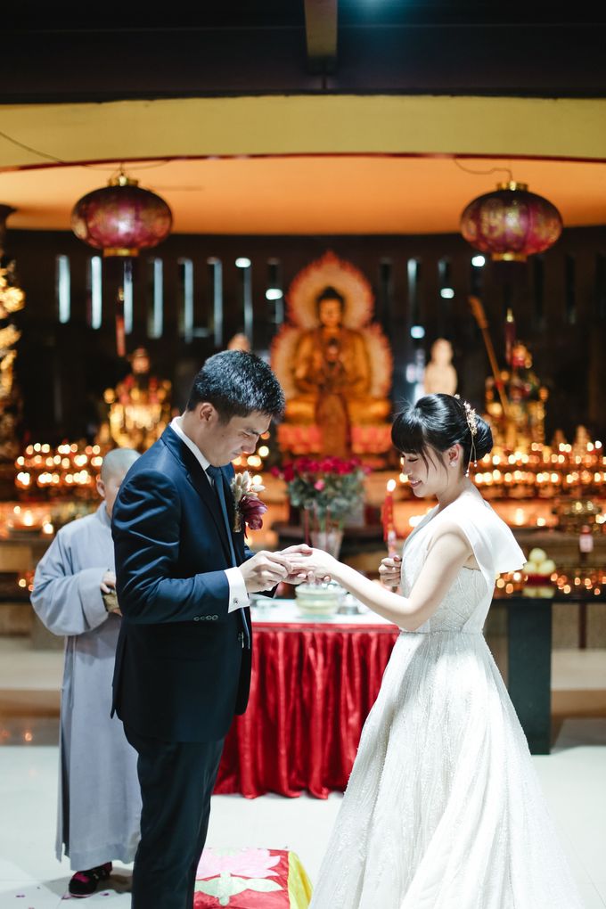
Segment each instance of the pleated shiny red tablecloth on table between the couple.
[{"label": "pleated shiny red tablecloth on table between the couple", "polygon": [[343,791],[398,629],[254,623],[248,709],[225,740],[215,793]]}]

